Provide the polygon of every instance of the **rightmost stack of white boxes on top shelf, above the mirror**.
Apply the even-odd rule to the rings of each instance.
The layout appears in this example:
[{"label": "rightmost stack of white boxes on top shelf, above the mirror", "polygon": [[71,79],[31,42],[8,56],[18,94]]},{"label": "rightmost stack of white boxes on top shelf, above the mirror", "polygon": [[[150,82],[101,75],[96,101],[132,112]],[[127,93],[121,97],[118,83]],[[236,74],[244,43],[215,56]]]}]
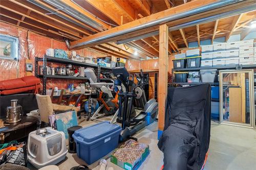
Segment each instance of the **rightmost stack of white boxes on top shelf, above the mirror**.
[{"label": "rightmost stack of white boxes on top shelf, above the mirror", "polygon": [[239,42],[239,64],[254,64],[253,39]]}]

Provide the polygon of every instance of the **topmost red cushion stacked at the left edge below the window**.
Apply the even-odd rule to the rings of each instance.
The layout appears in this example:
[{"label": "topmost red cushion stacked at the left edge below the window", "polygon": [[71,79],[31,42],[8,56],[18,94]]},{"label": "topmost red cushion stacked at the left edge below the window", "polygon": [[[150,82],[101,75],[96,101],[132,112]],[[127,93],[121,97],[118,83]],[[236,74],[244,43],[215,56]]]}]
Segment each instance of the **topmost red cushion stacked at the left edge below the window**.
[{"label": "topmost red cushion stacked at the left edge below the window", "polygon": [[22,79],[11,79],[0,81],[0,89],[1,90],[9,90],[15,88],[26,87],[26,83]]}]

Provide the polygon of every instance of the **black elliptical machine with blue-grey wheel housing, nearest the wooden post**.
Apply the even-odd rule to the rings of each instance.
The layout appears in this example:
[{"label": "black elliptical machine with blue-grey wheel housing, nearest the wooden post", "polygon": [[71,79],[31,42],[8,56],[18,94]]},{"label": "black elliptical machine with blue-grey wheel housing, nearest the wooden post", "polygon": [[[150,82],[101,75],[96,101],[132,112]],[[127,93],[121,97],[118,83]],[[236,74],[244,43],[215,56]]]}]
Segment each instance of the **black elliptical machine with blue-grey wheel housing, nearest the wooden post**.
[{"label": "black elliptical machine with blue-grey wheel housing, nearest the wooden post", "polygon": [[136,116],[132,116],[131,113],[134,110],[133,103],[137,96],[136,88],[146,85],[146,82],[142,77],[143,83],[132,87],[134,82],[129,79],[130,75],[126,68],[116,67],[112,69],[112,72],[125,88],[121,88],[118,94],[119,109],[116,122],[122,124],[122,132],[119,136],[119,141],[124,141],[127,138],[137,140],[136,138],[132,137],[132,135],[149,124],[148,121],[146,121],[147,117],[150,117],[151,120],[155,120],[158,114],[158,103],[154,102],[155,99],[150,100],[144,105],[143,111],[140,111],[140,113]]}]

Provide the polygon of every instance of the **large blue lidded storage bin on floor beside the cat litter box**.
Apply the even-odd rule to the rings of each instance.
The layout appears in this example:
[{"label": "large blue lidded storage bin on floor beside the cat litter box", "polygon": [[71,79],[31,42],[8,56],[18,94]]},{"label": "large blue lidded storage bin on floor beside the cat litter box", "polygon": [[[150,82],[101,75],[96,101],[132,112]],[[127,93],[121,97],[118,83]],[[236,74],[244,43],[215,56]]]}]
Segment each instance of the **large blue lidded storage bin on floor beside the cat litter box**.
[{"label": "large blue lidded storage bin on floor beside the cat litter box", "polygon": [[87,164],[99,160],[117,148],[121,130],[119,125],[102,122],[75,131],[77,156]]}]

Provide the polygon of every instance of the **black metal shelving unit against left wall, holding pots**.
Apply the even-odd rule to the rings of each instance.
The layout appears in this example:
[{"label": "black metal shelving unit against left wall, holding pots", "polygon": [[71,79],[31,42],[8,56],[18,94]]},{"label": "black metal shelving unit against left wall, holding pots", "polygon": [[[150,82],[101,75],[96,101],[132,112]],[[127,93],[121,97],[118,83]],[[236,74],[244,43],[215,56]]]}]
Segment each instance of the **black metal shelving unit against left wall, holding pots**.
[{"label": "black metal shelving unit against left wall, holding pots", "polygon": [[[38,75],[38,62],[43,62],[44,70],[43,75]],[[42,94],[46,94],[46,82],[47,79],[76,79],[76,80],[86,80],[88,81],[88,78],[86,77],[75,77],[75,76],[60,76],[60,75],[47,75],[46,65],[47,62],[52,63],[60,63],[60,64],[72,64],[75,66],[81,66],[81,67],[93,67],[94,69],[98,70],[98,78],[100,77],[100,70],[101,69],[108,69],[111,70],[112,68],[100,66],[96,64],[91,63],[84,63],[79,61],[73,61],[70,59],[62,59],[62,58],[56,58],[56,57],[50,57],[47,55],[44,55],[44,58],[35,57],[35,76],[38,78],[42,78]]]}]

